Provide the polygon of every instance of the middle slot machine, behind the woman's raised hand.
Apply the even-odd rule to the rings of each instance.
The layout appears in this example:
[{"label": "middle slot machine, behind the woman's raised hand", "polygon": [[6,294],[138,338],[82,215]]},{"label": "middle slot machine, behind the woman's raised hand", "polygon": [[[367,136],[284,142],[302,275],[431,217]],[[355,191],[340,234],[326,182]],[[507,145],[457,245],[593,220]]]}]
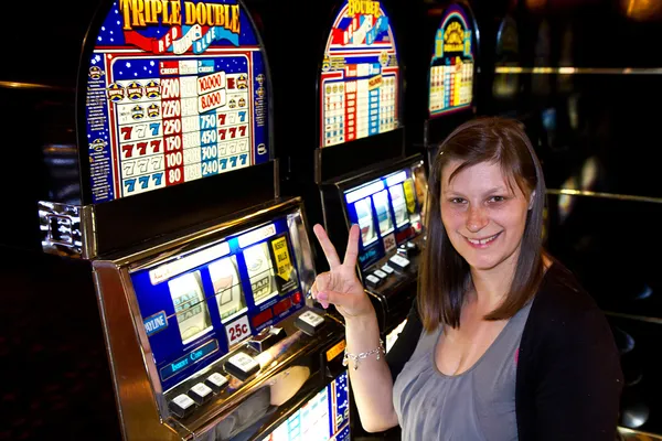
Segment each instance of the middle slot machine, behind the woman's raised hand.
[{"label": "middle slot machine, behind the woman's raised hand", "polygon": [[[385,336],[410,308],[425,236],[423,155],[404,149],[397,14],[383,1],[329,0],[319,7],[310,14],[297,2],[287,11],[296,35],[303,35],[296,56],[288,52],[292,34],[281,31],[282,21],[271,21],[268,47],[291,61],[274,68],[282,86],[275,90],[282,105],[275,130],[287,151],[282,191],[303,192],[310,225],[322,224],[339,252],[351,224],[361,225],[357,271]],[[273,8],[269,17],[279,12]],[[316,250],[318,268],[327,267]]]}]

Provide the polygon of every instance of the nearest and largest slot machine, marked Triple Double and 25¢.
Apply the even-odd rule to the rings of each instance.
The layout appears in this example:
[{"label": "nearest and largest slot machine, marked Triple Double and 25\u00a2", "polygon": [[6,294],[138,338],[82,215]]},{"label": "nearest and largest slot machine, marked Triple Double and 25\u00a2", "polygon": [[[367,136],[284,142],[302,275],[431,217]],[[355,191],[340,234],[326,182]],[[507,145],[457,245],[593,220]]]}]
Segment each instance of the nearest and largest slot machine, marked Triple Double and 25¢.
[{"label": "nearest and largest slot machine, marked Triple Double and 25\u00a2", "polygon": [[[298,415],[307,434],[343,439],[342,324],[308,300],[309,228],[302,200],[280,196],[270,72],[249,9],[234,0],[63,8],[90,23],[53,32],[78,37],[61,51],[78,52],[71,87],[2,83],[3,97],[33,106],[25,144],[39,150],[11,153],[39,158],[35,180],[47,190],[24,204],[38,208],[40,252],[25,249],[2,269],[17,289],[2,321],[41,322],[35,351],[51,355],[18,359],[15,388],[30,385],[46,405],[41,392],[58,394],[61,411],[49,419],[44,409],[32,434],[248,440]],[[25,315],[11,316],[14,304]],[[21,421],[43,402],[11,413],[13,438],[30,434]],[[99,412],[114,418],[102,423]]]}]

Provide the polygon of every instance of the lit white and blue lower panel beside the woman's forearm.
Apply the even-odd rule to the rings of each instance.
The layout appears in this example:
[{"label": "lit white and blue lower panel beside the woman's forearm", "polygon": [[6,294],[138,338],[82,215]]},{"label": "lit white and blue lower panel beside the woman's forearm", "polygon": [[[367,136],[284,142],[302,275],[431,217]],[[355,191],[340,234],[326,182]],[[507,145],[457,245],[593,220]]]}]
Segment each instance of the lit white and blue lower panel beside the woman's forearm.
[{"label": "lit white and blue lower panel beside the woman's forearm", "polygon": [[350,395],[342,373],[260,441],[348,441]]}]

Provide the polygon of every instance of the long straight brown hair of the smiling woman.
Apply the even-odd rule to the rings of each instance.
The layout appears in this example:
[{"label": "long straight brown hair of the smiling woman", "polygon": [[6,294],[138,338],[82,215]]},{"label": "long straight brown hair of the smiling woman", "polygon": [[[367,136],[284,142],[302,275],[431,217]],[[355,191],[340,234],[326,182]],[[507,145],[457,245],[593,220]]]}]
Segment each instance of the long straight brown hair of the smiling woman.
[{"label": "long straight brown hair of the smiling woman", "polygon": [[430,164],[427,241],[418,279],[418,311],[427,331],[439,324],[460,326],[465,295],[471,283],[469,263],[451,245],[441,222],[441,172],[453,160],[462,162],[453,175],[478,163],[499,163],[509,182],[514,182],[527,197],[533,196],[510,292],[484,319],[513,316],[533,298],[544,276],[545,181],[530,139],[515,120],[490,117],[467,121],[446,138]]}]

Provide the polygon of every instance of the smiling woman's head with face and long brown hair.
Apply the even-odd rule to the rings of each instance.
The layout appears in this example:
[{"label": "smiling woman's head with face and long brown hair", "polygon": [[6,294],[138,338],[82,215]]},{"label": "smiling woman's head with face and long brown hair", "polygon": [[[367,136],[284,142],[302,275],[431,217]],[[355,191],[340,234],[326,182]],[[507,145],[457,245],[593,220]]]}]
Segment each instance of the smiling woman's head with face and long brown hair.
[{"label": "smiling woman's head with face and long brown hair", "polygon": [[516,121],[479,118],[447,138],[429,181],[418,295],[426,330],[458,327],[467,284],[481,275],[510,283],[488,320],[511,318],[533,297],[544,273],[544,197],[543,172]]}]

